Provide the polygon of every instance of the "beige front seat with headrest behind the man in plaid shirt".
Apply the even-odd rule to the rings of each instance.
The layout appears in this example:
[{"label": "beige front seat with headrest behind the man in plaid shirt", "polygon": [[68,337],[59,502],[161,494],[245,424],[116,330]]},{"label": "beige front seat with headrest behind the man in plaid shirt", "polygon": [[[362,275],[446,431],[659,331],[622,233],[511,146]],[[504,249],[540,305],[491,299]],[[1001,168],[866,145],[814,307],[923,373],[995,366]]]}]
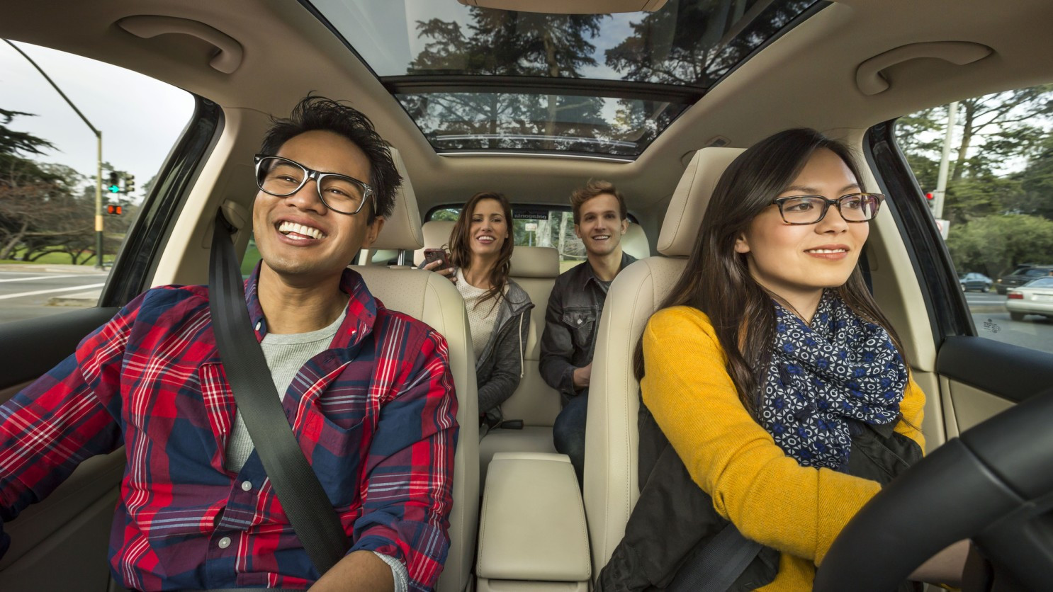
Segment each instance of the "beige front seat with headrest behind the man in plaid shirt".
[{"label": "beige front seat with headrest behind the man in plaid shirt", "polygon": [[[422,244],[417,199],[401,158],[394,149],[392,156],[402,175],[402,186],[395,197],[395,210],[372,246],[378,250],[412,251]],[[479,518],[478,396],[464,301],[450,281],[431,271],[390,269],[376,265],[352,268],[362,274],[370,291],[384,306],[423,321],[446,340],[450,366],[457,389],[457,422],[460,424],[460,432],[454,453],[450,553],[436,589],[439,592],[463,592],[472,581]]]}]

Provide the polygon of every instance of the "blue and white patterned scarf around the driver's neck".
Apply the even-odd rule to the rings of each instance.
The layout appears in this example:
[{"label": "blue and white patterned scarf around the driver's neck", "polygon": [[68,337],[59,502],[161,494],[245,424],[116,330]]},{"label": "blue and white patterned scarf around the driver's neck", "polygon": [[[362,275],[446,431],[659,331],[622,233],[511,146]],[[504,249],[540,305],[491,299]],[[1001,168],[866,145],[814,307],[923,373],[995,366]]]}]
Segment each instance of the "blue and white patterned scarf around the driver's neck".
[{"label": "blue and white patterned scarf around the driver's neck", "polygon": [[852,448],[848,420],[898,420],[907,380],[888,331],[861,319],[832,290],[823,293],[810,326],[776,302],[760,424],[802,466],[837,469]]}]

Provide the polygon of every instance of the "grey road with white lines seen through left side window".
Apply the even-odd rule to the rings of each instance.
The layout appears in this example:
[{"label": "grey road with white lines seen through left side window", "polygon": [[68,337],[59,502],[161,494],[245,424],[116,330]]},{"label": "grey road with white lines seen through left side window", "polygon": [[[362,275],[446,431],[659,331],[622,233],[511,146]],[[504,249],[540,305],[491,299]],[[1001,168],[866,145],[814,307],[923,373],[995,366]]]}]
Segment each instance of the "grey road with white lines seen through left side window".
[{"label": "grey road with white lines seen through left side window", "polygon": [[[14,266],[0,270],[0,323],[37,319],[71,310],[95,306],[91,298],[102,289],[107,271],[64,269],[59,267],[24,266],[25,271],[11,271]],[[23,267],[23,266],[19,266]],[[72,267],[72,266],[69,266]],[[61,306],[55,299],[63,297]],[[68,298],[81,297],[81,298]]]}]

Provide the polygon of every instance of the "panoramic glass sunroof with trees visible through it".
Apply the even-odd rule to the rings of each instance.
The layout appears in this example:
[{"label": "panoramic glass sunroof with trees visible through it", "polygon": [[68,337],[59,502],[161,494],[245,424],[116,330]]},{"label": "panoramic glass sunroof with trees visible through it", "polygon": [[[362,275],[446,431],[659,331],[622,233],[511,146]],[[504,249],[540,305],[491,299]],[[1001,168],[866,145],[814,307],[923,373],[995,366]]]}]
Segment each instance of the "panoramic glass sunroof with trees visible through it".
[{"label": "panoramic glass sunroof with trees visible through it", "polygon": [[457,0],[312,2],[437,152],[620,159],[828,3],[668,0],[655,12],[555,15]]}]

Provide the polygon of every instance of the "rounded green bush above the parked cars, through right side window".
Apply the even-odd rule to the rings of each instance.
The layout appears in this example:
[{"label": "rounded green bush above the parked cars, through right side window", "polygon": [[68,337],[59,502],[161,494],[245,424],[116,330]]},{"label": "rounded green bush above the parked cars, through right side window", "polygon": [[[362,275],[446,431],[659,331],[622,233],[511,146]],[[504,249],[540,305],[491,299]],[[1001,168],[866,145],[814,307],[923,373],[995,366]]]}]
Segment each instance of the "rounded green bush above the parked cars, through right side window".
[{"label": "rounded green bush above the parked cars, through right side window", "polygon": [[1020,263],[1053,260],[1053,221],[1036,216],[988,216],[952,226],[947,247],[959,271],[997,278]]}]

